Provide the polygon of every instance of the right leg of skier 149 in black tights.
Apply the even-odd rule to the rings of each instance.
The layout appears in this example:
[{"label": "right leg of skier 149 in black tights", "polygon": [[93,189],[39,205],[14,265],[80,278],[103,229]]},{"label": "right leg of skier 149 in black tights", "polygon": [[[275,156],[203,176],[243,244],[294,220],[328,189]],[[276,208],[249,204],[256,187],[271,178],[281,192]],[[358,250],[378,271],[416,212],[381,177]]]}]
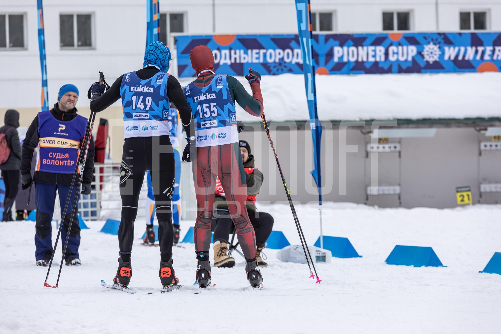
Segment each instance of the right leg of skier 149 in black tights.
[{"label": "right leg of skier 149 in black tights", "polygon": [[174,193],[174,153],[168,136],[151,137],[151,154],[146,158],[155,196],[158,242],[163,262],[172,257],[172,195]]}]

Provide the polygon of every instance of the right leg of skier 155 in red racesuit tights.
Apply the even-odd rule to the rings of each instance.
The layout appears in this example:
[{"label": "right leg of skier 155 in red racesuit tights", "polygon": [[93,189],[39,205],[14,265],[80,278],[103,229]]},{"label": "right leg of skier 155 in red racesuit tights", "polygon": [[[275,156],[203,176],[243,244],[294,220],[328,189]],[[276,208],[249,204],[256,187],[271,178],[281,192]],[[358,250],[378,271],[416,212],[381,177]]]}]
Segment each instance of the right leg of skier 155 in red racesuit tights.
[{"label": "right leg of skier 155 in red racesuit tights", "polygon": [[238,143],[217,146],[219,148],[218,176],[226,195],[226,202],[235,225],[238,242],[247,262],[256,260],[256,235],[250,224],[245,201],[247,187],[245,170],[240,158]]}]

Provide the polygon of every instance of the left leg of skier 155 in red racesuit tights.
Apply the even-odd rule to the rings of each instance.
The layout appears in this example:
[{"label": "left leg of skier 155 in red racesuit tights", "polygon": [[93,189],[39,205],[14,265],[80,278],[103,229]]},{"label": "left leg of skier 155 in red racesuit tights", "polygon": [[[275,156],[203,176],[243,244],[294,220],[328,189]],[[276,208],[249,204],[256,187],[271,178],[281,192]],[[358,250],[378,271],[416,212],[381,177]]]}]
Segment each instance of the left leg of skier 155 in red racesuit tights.
[{"label": "left leg of skier 155 in red racesuit tights", "polygon": [[[214,208],[215,175],[212,168],[217,163],[217,146],[197,147],[193,161],[193,178],[195,180],[196,222],[193,238],[197,258],[208,260],[210,248],[212,210]],[[216,160],[213,161],[213,158]],[[200,254],[207,255],[200,255]]]}]

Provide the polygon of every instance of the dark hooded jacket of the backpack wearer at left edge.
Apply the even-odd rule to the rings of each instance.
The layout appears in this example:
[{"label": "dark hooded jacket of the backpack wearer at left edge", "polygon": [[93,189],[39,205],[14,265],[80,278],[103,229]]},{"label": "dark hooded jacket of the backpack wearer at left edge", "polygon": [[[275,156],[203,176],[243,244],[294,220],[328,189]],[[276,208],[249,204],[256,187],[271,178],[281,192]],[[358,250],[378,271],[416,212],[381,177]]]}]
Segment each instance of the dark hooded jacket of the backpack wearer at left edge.
[{"label": "dark hooded jacket of the backpack wearer at left edge", "polygon": [[19,112],[9,109],[5,113],[5,125],[0,127],[0,133],[6,133],[5,139],[11,148],[11,155],[6,162],[0,164],[2,171],[18,171],[21,165],[21,144],[19,142]]}]

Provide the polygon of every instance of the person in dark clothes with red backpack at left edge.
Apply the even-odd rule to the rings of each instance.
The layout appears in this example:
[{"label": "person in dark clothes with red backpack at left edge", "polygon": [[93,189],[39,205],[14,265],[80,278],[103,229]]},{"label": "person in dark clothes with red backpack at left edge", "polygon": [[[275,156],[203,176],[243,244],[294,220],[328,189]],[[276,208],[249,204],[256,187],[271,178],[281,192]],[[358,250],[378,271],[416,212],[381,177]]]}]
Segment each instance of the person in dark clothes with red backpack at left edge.
[{"label": "person in dark clothes with red backpack at left edge", "polygon": [[5,125],[0,127],[0,170],[5,183],[3,222],[12,221],[12,207],[19,189],[19,168],[21,166],[21,144],[19,142],[19,112],[9,109],[5,112]]}]

